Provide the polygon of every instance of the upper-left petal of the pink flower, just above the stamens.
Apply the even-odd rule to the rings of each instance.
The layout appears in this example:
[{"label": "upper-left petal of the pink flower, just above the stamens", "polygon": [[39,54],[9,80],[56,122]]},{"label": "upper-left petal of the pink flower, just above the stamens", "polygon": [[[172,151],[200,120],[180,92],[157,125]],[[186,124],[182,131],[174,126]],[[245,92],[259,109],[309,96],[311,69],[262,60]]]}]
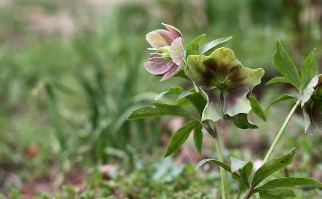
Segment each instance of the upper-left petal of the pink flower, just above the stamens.
[{"label": "upper-left petal of the pink flower, just above the stamens", "polygon": [[153,48],[170,46],[174,40],[169,31],[162,29],[149,32],[146,34],[145,39]]}]

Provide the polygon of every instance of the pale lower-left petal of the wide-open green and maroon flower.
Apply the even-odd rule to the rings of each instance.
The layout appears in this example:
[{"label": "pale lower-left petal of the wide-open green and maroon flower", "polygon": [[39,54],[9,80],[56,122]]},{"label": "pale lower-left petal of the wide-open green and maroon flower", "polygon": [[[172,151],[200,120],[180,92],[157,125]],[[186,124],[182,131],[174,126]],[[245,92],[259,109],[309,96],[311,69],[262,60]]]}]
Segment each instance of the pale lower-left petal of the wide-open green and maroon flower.
[{"label": "pale lower-left petal of the wide-open green and maroon flower", "polygon": [[211,90],[200,87],[201,91],[207,97],[207,104],[202,112],[201,120],[217,120],[223,118],[222,105],[220,101],[220,89],[214,88]]}]

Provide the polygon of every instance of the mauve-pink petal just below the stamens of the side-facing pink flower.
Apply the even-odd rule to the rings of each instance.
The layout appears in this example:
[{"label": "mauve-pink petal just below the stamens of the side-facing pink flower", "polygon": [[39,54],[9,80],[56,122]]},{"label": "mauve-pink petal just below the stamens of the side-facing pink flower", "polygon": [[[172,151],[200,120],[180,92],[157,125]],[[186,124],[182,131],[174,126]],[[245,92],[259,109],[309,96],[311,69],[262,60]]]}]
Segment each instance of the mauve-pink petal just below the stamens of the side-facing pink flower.
[{"label": "mauve-pink petal just below the stamens of the side-facing pink flower", "polygon": [[[156,53],[161,53],[160,51],[156,51]],[[152,54],[149,58],[160,57],[160,55]],[[167,72],[175,63],[171,60],[164,59],[148,59],[144,63],[145,69],[152,74],[163,74]]]}]

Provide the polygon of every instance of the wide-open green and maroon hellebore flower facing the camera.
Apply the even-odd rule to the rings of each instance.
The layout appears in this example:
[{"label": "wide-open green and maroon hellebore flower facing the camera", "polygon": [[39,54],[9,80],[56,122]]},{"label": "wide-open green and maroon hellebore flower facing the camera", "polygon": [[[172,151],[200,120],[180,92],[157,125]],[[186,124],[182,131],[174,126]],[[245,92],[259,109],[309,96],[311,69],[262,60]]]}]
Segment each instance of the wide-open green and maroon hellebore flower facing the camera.
[{"label": "wide-open green and maroon hellebore flower facing the camera", "polygon": [[251,111],[247,95],[261,82],[264,70],[243,67],[232,50],[222,47],[209,56],[190,55],[185,73],[206,95],[202,121],[217,121],[225,114]]}]

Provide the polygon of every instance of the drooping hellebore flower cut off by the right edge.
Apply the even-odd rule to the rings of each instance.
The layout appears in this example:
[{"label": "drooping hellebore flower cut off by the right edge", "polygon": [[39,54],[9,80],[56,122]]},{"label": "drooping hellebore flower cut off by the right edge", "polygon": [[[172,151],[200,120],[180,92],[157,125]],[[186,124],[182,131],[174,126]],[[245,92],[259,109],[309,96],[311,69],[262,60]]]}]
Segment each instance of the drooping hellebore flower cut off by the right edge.
[{"label": "drooping hellebore flower cut off by the right edge", "polygon": [[[316,85],[311,96],[303,105],[305,134],[312,134],[315,128],[322,130],[322,74],[313,77],[309,85]],[[308,86],[308,89],[310,87]]]}]

